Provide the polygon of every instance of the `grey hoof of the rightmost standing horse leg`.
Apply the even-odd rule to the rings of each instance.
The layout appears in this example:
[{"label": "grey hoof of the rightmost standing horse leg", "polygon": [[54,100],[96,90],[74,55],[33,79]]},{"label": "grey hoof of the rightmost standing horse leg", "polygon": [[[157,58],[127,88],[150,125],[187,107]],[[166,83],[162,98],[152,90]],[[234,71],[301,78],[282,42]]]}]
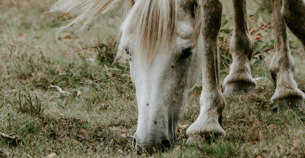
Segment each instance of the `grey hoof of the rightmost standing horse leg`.
[{"label": "grey hoof of the rightmost standing horse leg", "polygon": [[303,99],[287,98],[278,100],[277,104],[272,108],[273,111],[286,110],[286,109],[305,109],[305,104]]}]

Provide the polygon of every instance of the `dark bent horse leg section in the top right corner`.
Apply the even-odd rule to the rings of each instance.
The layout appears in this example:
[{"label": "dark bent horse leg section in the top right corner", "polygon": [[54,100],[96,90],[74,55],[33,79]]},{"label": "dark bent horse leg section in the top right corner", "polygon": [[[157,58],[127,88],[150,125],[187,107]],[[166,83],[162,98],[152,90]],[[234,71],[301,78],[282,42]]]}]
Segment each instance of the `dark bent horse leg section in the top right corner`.
[{"label": "dark bent horse leg section in the top right corner", "polygon": [[282,18],[305,50],[305,0],[283,0]]}]

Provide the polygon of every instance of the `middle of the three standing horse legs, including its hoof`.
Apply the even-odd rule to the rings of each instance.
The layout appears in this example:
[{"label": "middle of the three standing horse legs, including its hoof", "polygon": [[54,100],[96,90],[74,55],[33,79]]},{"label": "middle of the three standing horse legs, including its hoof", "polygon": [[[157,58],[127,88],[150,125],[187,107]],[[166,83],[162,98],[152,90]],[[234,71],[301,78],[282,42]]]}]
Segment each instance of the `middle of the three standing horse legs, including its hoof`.
[{"label": "middle of the three standing horse legs, including its hoof", "polygon": [[246,23],[246,1],[233,0],[234,28],[230,41],[233,63],[230,73],[224,79],[224,96],[239,91],[255,93],[256,82],[251,76],[250,60],[253,51],[253,39]]}]

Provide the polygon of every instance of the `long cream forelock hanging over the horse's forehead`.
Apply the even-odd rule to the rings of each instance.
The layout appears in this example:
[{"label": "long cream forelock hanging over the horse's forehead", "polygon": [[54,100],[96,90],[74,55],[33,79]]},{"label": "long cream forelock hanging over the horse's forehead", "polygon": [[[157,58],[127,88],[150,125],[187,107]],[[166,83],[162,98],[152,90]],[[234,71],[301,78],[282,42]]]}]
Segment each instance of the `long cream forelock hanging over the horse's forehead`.
[{"label": "long cream forelock hanging over the horse's forehead", "polygon": [[133,33],[134,52],[152,59],[160,51],[171,51],[176,36],[178,4],[179,0],[135,2],[126,19],[128,30]]}]

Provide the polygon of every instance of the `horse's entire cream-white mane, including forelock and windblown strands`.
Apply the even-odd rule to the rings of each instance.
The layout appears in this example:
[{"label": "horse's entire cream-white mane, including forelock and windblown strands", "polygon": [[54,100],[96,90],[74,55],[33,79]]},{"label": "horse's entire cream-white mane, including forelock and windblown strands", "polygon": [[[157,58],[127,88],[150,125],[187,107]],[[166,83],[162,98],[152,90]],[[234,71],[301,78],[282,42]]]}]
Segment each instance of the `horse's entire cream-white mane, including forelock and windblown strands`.
[{"label": "horse's entire cream-white mane, including forelock and windblown strands", "polygon": [[[133,34],[131,51],[141,52],[146,59],[154,58],[164,48],[170,52],[176,36],[180,1],[183,0],[125,0],[126,19],[123,25],[127,25],[124,27]],[[203,0],[185,1],[197,4],[193,33],[193,47],[196,47],[202,31]],[[120,0],[58,0],[50,11],[78,15],[62,29],[77,23],[82,23],[81,29],[84,29],[95,17],[105,14],[119,2]],[[124,48],[119,47],[118,55],[123,51]]]}]

